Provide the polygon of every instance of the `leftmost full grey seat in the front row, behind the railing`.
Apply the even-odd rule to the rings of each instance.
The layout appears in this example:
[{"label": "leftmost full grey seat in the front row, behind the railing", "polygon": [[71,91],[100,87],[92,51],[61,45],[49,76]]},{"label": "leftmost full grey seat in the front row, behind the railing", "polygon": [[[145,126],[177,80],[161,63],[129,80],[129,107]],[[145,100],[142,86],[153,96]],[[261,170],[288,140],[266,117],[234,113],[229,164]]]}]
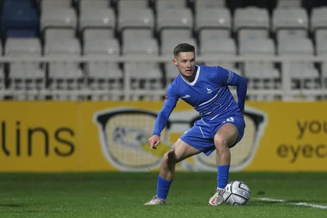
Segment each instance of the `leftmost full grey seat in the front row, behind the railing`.
[{"label": "leftmost full grey seat in the front row, behind the railing", "polygon": [[[38,38],[7,38],[5,57],[41,57],[40,40]],[[9,78],[12,81],[12,89],[35,90],[43,89],[45,85],[45,73],[37,61],[11,63]]]}]

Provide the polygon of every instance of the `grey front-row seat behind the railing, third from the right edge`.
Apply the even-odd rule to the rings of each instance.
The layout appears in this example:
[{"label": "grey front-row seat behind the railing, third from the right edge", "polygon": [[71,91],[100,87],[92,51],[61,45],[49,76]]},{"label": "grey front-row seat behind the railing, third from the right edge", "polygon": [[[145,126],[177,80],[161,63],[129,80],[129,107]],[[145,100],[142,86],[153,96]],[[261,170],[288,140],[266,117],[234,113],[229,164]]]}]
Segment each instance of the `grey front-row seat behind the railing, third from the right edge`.
[{"label": "grey front-row seat behind the railing, third from the right edge", "polygon": [[[243,57],[274,57],[275,45],[272,39],[259,38],[243,40],[239,46],[239,55]],[[249,61],[244,64],[244,75],[249,87],[254,89],[275,89],[280,87],[281,78],[272,62]]]}]

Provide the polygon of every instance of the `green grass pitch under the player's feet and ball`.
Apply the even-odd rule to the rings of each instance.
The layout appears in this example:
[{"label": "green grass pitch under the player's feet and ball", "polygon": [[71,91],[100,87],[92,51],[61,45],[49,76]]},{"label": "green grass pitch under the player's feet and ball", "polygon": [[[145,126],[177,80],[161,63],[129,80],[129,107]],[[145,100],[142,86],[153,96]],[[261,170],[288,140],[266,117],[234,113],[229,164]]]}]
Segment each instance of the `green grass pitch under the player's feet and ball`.
[{"label": "green grass pitch under the player's feet and ball", "polygon": [[249,204],[209,207],[216,176],[177,172],[168,204],[146,206],[156,172],[2,173],[0,217],[327,217],[326,173],[230,173],[250,187]]}]

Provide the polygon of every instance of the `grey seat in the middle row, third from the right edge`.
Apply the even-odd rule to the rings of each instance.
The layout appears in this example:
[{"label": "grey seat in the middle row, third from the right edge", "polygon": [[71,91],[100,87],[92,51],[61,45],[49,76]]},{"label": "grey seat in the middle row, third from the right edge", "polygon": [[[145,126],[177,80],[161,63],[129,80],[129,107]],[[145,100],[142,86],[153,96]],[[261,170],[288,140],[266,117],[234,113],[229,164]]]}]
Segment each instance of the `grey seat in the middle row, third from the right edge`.
[{"label": "grey seat in the middle row, third from the right edge", "polygon": [[270,19],[267,9],[247,7],[235,10],[233,31],[238,34],[238,41],[267,38],[269,29]]}]

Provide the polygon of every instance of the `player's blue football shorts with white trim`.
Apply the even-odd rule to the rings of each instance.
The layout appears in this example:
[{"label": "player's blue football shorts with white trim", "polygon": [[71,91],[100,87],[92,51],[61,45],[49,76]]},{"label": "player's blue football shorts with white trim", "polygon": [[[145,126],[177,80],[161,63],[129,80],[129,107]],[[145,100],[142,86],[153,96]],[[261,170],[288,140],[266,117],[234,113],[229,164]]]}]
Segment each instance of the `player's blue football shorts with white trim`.
[{"label": "player's blue football shorts with white trim", "polygon": [[244,135],[245,122],[243,116],[231,116],[215,123],[204,123],[202,119],[197,120],[193,127],[186,130],[184,134],[180,136],[180,139],[208,156],[216,150],[214,143],[216,132],[226,123],[235,125],[239,132],[237,141],[229,147],[231,148],[235,146]]}]

